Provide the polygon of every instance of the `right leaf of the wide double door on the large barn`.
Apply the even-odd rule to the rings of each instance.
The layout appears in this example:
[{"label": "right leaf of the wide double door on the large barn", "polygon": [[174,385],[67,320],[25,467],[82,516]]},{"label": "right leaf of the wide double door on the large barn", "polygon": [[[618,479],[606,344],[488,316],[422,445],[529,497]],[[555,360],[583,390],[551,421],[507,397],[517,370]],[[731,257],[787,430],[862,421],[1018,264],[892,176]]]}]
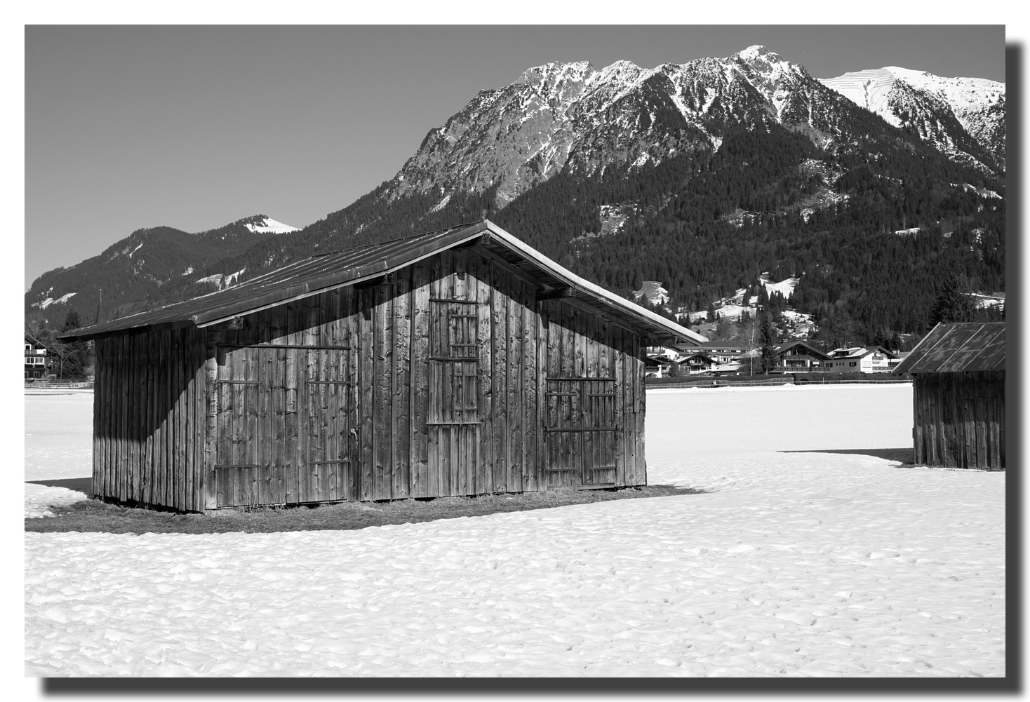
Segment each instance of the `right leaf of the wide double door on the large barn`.
[{"label": "right leaf of the wide double door on the large barn", "polygon": [[307,460],[298,466],[298,502],[356,499],[354,407],[344,349],[310,349],[305,380]]}]

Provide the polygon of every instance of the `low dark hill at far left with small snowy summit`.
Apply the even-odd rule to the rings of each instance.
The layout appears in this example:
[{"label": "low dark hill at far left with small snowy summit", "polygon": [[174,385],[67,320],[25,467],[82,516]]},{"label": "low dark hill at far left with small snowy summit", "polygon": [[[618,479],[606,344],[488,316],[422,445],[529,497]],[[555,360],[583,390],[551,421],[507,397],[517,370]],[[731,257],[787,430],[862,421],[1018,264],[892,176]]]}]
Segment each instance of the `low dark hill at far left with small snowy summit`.
[{"label": "low dark hill at far left with small snowy summit", "polygon": [[101,289],[108,318],[129,312],[169,283],[186,283],[182,287],[193,295],[210,292],[225,278],[212,264],[265,239],[297,231],[264,214],[199,234],[170,226],[136,230],[98,256],[37,278],[25,294],[26,313],[42,314],[60,325],[67,310],[74,307],[83,323],[93,323]]}]

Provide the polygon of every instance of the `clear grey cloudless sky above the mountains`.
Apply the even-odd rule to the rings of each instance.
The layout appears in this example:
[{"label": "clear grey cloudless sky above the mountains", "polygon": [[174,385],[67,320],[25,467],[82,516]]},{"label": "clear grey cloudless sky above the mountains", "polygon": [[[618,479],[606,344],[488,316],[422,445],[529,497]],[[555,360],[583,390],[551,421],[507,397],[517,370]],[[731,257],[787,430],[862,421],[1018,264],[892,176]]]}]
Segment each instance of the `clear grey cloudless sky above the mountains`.
[{"label": "clear grey cloudless sky above the mountains", "polygon": [[143,226],[295,226],[389,179],[526,68],[652,68],[764,44],[820,78],[901,66],[1003,81],[994,26],[29,26],[25,286]]}]

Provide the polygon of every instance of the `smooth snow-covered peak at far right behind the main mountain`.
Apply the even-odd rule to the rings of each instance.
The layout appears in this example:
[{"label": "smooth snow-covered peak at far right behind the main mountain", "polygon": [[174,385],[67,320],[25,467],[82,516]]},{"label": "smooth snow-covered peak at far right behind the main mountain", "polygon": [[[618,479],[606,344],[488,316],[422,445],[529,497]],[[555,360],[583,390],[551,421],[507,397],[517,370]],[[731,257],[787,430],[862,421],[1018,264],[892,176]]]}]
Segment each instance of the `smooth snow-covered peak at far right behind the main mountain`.
[{"label": "smooth snow-covered peak at far right behind the main mountain", "polygon": [[1005,85],[888,66],[822,81],[942,153],[992,172],[1005,167]]}]

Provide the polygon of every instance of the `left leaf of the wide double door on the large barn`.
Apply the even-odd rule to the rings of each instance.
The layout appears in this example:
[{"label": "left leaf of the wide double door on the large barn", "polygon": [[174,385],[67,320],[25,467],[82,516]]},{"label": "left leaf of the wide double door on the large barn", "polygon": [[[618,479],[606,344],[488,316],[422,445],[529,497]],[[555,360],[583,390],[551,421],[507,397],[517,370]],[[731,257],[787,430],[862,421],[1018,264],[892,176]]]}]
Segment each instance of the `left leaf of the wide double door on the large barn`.
[{"label": "left leaf of the wide double door on the large barn", "polygon": [[[215,491],[219,507],[281,504],[286,484],[276,460],[273,349],[217,347]],[[279,432],[281,434],[281,432]]]}]

